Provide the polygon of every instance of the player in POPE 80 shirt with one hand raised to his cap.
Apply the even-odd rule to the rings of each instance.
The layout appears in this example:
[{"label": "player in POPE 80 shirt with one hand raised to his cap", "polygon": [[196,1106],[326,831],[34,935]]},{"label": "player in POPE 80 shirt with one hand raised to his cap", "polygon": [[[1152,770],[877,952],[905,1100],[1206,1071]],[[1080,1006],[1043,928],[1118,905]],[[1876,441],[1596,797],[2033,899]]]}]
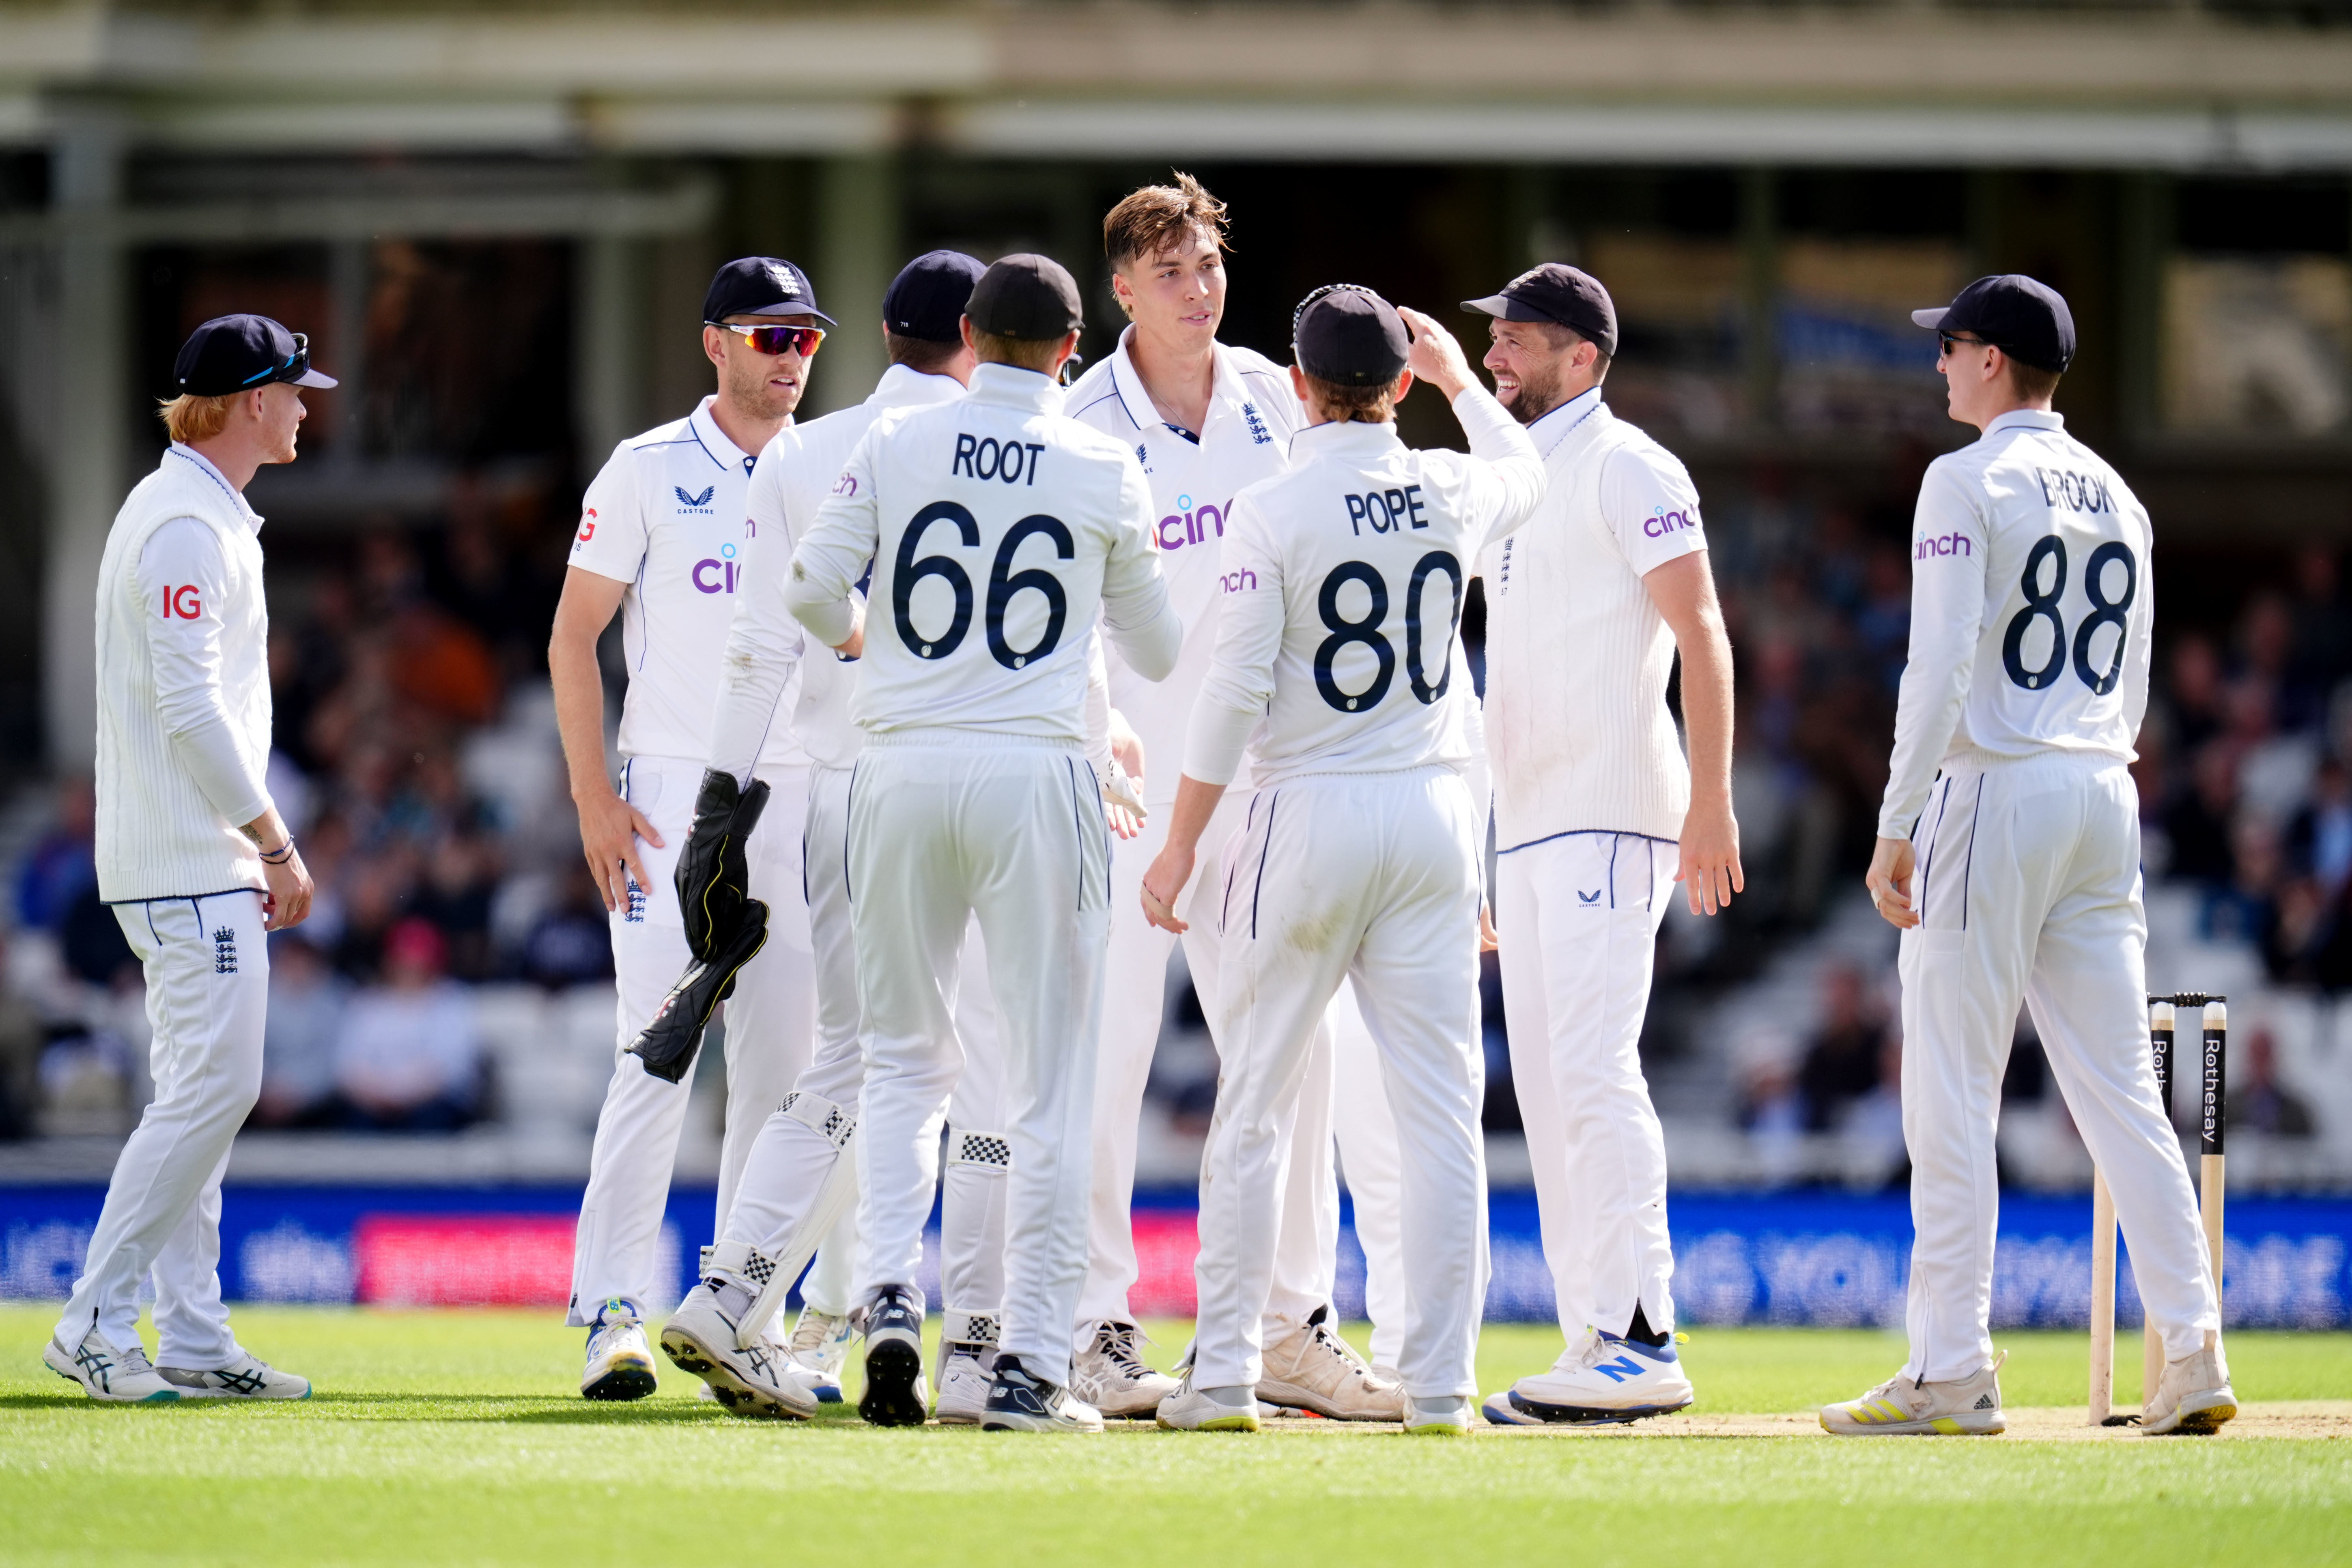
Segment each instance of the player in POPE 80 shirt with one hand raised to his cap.
[{"label": "player in POPE 80 shirt with one hand raised to his cap", "polygon": [[[1225,940],[1200,1326],[1160,1425],[1258,1425],[1282,1124],[1322,1013],[1352,976],[1409,1164],[1404,1425],[1468,1432],[1486,1295],[1479,811],[1446,755],[1444,696],[1470,564],[1534,510],[1543,463],[1461,346],[1369,289],[1308,296],[1294,353],[1310,425],[1289,473],[1242,491],[1228,522],[1216,663],[1167,846],[1143,875],[1150,919],[1183,931],[1174,900],[1254,750],[1247,825],[1207,912]],[[1475,456],[1397,440],[1395,400],[1414,374],[1454,404]]]}]

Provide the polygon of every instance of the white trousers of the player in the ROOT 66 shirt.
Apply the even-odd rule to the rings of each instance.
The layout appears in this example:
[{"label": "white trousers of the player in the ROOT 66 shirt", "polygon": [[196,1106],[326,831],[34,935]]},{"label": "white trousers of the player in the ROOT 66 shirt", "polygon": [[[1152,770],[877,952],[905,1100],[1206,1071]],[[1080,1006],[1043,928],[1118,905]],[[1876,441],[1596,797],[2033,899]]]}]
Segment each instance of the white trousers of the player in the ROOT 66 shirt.
[{"label": "white trousers of the player in the ROOT 66 shirt", "polygon": [[1077,750],[978,731],[866,741],[849,797],[866,1009],[863,1293],[913,1286],[922,1265],[938,1121],[964,1065],[955,954],[976,914],[1011,1154],[1000,1345],[1051,1382],[1070,1380],[1087,1269],[1108,882],[1101,785]]}]

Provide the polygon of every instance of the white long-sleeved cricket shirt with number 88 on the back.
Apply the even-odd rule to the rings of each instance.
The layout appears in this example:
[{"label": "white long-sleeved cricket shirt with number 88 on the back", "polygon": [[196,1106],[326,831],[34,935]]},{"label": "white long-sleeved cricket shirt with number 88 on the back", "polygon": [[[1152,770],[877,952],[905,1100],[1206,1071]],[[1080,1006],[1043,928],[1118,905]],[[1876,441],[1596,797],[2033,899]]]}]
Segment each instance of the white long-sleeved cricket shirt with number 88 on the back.
[{"label": "white long-sleeved cricket shirt with number 88 on the back", "polygon": [[1910,837],[1945,759],[2133,759],[2157,585],[2147,508],[2034,409],[1926,468],[1912,637],[1879,837]]}]

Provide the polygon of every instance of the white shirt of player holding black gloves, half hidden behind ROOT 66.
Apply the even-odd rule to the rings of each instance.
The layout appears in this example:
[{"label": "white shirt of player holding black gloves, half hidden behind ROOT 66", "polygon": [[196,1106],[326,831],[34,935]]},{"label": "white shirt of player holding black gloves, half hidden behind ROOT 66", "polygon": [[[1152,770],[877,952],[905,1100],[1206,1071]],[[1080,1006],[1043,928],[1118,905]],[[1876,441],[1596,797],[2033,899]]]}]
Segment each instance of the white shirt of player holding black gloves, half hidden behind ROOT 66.
[{"label": "white shirt of player holding black gloves, half hidden behind ROOT 66", "polygon": [[710,726],[713,769],[748,783],[760,757],[776,750],[779,733],[783,745],[797,745],[816,766],[847,769],[856,762],[863,738],[849,717],[856,663],[809,642],[786,609],[793,550],[882,414],[962,395],[964,383],[955,376],[891,364],[866,402],[779,430],[760,454],[746,496],[748,541]]}]

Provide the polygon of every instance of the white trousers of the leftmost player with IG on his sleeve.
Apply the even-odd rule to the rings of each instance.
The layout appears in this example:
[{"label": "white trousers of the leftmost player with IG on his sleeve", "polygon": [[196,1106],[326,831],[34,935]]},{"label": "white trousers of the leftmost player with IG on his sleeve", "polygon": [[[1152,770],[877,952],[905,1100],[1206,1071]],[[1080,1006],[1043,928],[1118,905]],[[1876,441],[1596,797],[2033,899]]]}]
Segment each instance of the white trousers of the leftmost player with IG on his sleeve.
[{"label": "white trousers of the leftmost player with IG on his sleeve", "polygon": [[261,1025],[270,952],[261,893],[118,903],[115,922],[146,971],[155,1098],[115,1159],[56,1338],[92,1326],[139,1342],[139,1281],[155,1272],[155,1363],[228,1366],[238,1335],[221,1302],[221,1173],[261,1095]]}]

